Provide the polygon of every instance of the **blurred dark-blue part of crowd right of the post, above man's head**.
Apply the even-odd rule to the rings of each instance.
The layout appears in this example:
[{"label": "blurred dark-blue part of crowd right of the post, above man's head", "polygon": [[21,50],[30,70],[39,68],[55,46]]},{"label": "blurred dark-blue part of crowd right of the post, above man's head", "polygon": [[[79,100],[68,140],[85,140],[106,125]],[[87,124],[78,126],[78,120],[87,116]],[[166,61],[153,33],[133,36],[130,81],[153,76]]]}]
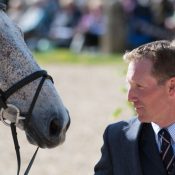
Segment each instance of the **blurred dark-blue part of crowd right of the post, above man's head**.
[{"label": "blurred dark-blue part of crowd right of the post, above man's head", "polygon": [[174,38],[174,0],[125,0],[121,3],[127,16],[127,47]]}]

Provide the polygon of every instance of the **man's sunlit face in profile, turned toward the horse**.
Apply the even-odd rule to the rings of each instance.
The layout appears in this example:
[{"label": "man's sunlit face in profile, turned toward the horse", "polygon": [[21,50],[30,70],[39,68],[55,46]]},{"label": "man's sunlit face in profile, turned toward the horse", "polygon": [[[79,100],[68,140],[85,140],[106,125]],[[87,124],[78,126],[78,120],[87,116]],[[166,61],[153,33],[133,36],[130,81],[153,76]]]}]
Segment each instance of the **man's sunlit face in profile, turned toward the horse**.
[{"label": "man's sunlit face in profile, turned toward the horse", "polygon": [[141,122],[160,124],[166,120],[169,111],[168,91],[166,84],[158,85],[151,69],[152,62],[148,59],[129,63],[128,101],[133,103]]}]

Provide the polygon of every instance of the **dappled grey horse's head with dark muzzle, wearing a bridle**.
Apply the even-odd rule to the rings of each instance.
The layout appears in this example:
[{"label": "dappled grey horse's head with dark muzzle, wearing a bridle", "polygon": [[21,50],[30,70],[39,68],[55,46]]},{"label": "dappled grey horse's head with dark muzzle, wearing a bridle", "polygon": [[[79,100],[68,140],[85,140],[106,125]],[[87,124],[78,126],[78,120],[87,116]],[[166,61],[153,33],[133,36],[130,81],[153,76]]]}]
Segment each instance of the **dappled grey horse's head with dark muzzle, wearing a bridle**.
[{"label": "dappled grey horse's head with dark muzzle, wearing a bridle", "polygon": [[[6,92],[15,83],[40,70],[20,29],[0,10],[0,90]],[[64,141],[70,118],[52,81],[47,79],[47,75],[44,76],[46,80],[39,91],[28,123],[25,124],[26,119],[20,114],[28,112],[42,76],[5,99],[8,108],[1,112],[1,119],[13,120],[14,110],[17,110],[19,118],[16,126],[25,130],[30,143],[51,148]]]}]

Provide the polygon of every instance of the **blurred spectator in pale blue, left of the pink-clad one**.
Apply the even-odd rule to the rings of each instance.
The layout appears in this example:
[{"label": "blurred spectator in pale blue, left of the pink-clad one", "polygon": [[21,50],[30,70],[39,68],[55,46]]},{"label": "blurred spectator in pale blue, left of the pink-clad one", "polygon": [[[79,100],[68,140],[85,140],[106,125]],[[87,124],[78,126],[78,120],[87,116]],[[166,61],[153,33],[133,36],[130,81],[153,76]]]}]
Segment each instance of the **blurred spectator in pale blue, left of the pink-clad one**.
[{"label": "blurred spectator in pale blue, left of the pink-clad one", "polygon": [[73,0],[62,0],[60,4],[61,9],[51,25],[49,36],[58,47],[69,47],[80,20],[81,11]]}]

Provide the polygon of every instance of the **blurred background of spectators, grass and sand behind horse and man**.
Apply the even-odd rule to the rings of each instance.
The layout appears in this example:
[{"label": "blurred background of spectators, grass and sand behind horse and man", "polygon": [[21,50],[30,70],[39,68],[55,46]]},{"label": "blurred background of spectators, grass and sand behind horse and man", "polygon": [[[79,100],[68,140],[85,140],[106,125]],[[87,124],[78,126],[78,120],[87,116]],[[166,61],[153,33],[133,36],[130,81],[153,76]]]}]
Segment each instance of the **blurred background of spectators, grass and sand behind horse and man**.
[{"label": "blurred background of spectators, grass and sand behind horse and man", "polygon": [[[131,117],[122,54],[174,39],[173,0],[0,0],[34,58],[53,76],[71,115],[60,147],[39,150],[30,174],[92,175],[104,129]],[[10,129],[0,123],[0,174],[16,173]],[[24,172],[35,146],[18,132]],[[23,174],[23,173],[21,173]]]}]

